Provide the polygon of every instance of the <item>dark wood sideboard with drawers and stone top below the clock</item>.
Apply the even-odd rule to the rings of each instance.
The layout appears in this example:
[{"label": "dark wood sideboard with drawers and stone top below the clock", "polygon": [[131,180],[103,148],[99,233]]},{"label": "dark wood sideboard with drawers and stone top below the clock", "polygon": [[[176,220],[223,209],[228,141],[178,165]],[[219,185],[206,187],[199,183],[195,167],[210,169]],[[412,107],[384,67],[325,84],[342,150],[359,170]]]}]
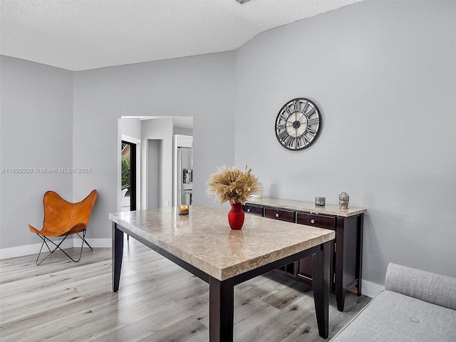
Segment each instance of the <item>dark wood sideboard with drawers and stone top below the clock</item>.
[{"label": "dark wood sideboard with drawers and stone top below the clock", "polygon": [[[338,311],[343,311],[348,289],[356,286],[358,296],[361,296],[363,217],[367,209],[339,209],[338,205],[316,206],[312,202],[276,198],[252,199],[242,209],[270,219],[335,230],[336,239],[331,242],[330,249],[329,284],[330,291],[336,294]],[[276,271],[312,284],[312,257],[294,261]]]}]

